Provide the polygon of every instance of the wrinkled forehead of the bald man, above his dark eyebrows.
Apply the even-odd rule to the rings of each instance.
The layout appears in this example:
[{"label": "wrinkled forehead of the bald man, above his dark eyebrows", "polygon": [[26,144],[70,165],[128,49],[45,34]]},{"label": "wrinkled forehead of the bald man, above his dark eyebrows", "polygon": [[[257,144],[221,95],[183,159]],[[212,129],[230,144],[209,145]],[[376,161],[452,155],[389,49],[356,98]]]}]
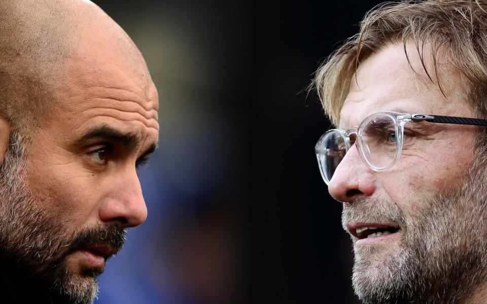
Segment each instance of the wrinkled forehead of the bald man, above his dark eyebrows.
[{"label": "wrinkled forehead of the bald man, above his dark eyebrows", "polygon": [[65,137],[94,125],[110,125],[141,139],[157,140],[158,95],[145,66],[74,60],[54,91],[57,105],[49,125]]}]

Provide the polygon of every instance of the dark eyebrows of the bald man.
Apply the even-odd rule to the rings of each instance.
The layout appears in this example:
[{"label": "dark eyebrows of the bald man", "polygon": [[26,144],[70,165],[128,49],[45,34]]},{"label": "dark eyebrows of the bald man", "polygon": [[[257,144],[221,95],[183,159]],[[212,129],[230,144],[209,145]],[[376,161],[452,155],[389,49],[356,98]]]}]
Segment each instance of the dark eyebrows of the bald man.
[{"label": "dark eyebrows of the bald man", "polygon": [[[123,133],[108,125],[100,125],[88,129],[80,138],[76,139],[75,145],[82,145],[87,141],[99,139],[112,142],[118,142],[127,147],[129,150],[134,150],[140,144],[141,139],[133,133]],[[157,149],[157,143],[152,143],[147,149],[145,149],[140,158],[144,158],[153,153]]]}]

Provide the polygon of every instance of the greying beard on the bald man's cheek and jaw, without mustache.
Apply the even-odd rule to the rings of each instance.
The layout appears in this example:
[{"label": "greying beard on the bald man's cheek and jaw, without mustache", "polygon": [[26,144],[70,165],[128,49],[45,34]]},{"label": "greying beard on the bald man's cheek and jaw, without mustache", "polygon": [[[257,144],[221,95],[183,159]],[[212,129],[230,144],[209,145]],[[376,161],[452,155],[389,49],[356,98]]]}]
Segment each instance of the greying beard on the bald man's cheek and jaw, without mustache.
[{"label": "greying beard on the bald man's cheek and jaw, without mustache", "polygon": [[98,292],[95,278],[74,278],[65,264],[66,246],[74,235],[56,214],[41,209],[24,182],[25,151],[12,135],[0,168],[0,255],[15,261],[19,272],[47,283],[54,298],[74,304],[92,303]]}]

